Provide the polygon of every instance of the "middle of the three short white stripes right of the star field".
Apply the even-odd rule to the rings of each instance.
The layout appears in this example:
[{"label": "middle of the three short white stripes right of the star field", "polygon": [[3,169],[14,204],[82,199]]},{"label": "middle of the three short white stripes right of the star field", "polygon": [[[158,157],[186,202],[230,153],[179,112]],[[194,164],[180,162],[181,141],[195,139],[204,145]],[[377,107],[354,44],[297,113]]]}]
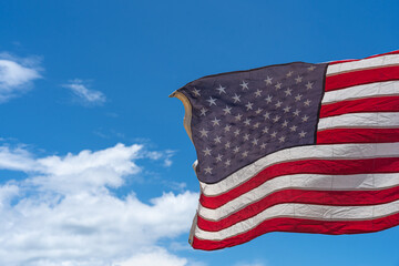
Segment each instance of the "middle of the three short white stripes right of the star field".
[{"label": "middle of the three short white stripes right of the star field", "polygon": [[376,82],[326,92],[321,104],[383,95],[399,95],[399,81]]}]

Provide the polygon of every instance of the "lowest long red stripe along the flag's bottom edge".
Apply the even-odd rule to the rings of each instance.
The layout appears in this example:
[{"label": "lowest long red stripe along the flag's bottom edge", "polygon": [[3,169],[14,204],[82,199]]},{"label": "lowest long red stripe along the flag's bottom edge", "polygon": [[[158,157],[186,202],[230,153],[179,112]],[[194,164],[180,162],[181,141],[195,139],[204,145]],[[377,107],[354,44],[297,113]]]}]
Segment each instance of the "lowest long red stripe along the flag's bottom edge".
[{"label": "lowest long red stripe along the flag's bottom edge", "polygon": [[252,231],[223,239],[204,241],[197,237],[193,239],[196,249],[214,250],[246,243],[255,237],[270,232],[295,232],[328,235],[371,233],[399,225],[399,214],[369,221],[350,222],[325,222],[300,218],[274,218],[259,224]]}]

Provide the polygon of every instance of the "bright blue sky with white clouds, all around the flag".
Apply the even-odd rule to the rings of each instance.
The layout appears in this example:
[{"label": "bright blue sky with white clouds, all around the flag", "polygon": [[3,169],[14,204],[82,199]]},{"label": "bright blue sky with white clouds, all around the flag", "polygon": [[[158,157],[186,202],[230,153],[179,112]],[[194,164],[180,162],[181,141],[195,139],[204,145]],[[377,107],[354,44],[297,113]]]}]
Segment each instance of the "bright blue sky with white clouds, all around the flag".
[{"label": "bright blue sky with white clouds, all around the flag", "polygon": [[398,49],[398,1],[1,1],[0,264],[399,266],[399,228],[193,250],[168,94],[207,74]]}]

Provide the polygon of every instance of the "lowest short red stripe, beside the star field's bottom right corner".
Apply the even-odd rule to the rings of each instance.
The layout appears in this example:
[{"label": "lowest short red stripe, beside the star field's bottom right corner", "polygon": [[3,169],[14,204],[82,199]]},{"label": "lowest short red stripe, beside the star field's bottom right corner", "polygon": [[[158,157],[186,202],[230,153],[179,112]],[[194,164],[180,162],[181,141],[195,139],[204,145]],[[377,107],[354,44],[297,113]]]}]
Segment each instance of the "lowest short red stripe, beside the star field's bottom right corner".
[{"label": "lowest short red stripe, beside the star field's bottom right corner", "polygon": [[317,132],[317,144],[399,142],[399,129],[335,129]]}]

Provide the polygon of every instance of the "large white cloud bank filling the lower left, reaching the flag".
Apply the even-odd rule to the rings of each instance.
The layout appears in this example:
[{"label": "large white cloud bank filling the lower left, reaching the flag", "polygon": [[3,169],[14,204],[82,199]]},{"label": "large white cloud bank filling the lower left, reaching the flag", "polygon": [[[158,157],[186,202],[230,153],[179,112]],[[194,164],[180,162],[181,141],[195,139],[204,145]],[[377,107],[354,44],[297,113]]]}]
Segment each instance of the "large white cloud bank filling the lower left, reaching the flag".
[{"label": "large white cloud bank filling the lower left, reaching the flag", "polygon": [[120,198],[109,188],[137,175],[135,160],[145,154],[142,145],[117,144],[37,157],[0,146],[0,168],[27,174],[0,185],[0,265],[191,265],[160,239],[188,233],[196,193],[164,193],[144,203],[133,192]]}]

